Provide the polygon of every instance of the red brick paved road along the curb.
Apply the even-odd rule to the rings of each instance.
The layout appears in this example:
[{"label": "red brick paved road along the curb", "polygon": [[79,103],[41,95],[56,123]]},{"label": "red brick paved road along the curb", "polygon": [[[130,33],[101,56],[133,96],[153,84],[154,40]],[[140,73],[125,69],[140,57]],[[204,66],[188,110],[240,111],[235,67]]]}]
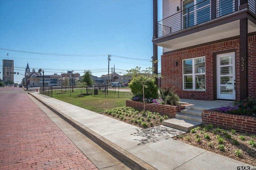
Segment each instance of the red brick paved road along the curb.
[{"label": "red brick paved road along the curb", "polygon": [[[23,92],[0,89],[0,169],[98,169]],[[20,93],[1,93],[18,90]]]}]

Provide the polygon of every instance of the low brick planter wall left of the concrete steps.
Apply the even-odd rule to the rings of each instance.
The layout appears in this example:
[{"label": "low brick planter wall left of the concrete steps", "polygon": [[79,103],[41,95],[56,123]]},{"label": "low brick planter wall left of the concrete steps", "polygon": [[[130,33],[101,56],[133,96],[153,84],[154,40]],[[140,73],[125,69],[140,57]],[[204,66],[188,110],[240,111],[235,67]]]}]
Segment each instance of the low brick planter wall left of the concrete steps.
[{"label": "low brick planter wall left of the concrete steps", "polygon": [[[143,102],[126,100],[127,107],[134,107],[136,109],[144,109]],[[180,109],[184,109],[185,105],[182,106],[171,106],[171,105],[163,105],[163,104],[153,104],[153,103],[145,103],[145,109],[151,112],[158,112],[162,115],[167,115],[170,118],[175,118],[176,113],[180,111]]]}]

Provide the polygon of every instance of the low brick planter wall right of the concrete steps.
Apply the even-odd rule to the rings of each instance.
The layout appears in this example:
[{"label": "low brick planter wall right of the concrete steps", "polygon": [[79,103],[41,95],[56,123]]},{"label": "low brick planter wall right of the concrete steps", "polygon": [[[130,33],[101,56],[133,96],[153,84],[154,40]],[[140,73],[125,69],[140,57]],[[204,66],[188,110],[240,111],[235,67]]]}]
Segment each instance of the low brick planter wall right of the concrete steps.
[{"label": "low brick planter wall right of the concrete steps", "polygon": [[218,127],[230,127],[236,131],[256,134],[256,117],[252,116],[232,115],[209,109],[202,111],[202,121]]}]

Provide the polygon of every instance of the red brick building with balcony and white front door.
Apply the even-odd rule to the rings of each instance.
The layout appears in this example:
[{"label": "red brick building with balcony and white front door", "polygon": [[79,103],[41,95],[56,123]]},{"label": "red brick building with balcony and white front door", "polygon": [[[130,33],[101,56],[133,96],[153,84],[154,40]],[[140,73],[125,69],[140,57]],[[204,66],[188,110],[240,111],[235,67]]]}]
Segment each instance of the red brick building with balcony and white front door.
[{"label": "red brick building with balcony and white front door", "polygon": [[153,3],[162,88],[187,99],[256,99],[255,0],[162,0],[161,21]]}]

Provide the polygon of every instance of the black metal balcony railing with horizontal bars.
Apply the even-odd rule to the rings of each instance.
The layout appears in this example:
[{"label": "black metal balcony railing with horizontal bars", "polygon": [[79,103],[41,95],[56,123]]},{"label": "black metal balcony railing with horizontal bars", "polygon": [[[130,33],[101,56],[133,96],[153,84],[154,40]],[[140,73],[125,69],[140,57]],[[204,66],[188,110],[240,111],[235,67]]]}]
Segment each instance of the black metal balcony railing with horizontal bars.
[{"label": "black metal balcony railing with horizontal bars", "polygon": [[[248,6],[248,9],[253,14],[256,14],[255,0],[248,0]],[[181,12],[158,21],[158,37],[175,33],[236,11],[238,11],[238,1],[236,0],[219,0],[218,2],[204,0],[199,4],[187,6]]]}]

